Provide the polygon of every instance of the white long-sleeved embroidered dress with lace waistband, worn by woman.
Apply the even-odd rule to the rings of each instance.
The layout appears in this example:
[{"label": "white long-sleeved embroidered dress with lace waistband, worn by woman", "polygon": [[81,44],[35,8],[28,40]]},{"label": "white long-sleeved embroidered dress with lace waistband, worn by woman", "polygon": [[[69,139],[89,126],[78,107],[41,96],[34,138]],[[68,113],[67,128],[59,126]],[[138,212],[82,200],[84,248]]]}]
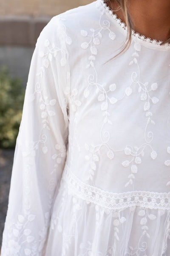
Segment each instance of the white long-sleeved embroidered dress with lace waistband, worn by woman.
[{"label": "white long-sleeved embroidered dress with lace waistband, worn by woman", "polygon": [[170,256],[170,44],[126,34],[102,0],[42,29],[1,256]]}]

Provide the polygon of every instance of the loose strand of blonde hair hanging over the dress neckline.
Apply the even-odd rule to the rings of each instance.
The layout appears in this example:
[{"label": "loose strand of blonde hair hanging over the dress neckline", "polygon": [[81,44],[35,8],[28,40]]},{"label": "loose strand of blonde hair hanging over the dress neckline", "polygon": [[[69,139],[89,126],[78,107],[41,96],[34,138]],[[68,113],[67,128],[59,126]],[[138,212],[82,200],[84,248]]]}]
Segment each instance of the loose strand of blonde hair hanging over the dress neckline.
[{"label": "loose strand of blonde hair hanging over the dress neckline", "polygon": [[[132,27],[133,27],[133,21],[130,18],[130,14],[129,14],[129,9],[127,6],[127,1],[128,0],[104,0],[104,2],[107,4],[108,2],[115,2],[119,5],[119,7],[114,11],[118,11],[119,9],[122,9],[123,15],[125,17],[125,23],[127,26],[127,38],[124,44],[124,48],[118,53],[116,54],[116,56],[118,56],[119,54],[125,52],[125,50],[127,50],[130,47],[130,43],[131,43],[131,38],[132,38]],[[167,40],[162,41],[160,45],[166,44],[170,42],[170,37],[167,38]],[[115,58],[116,56],[114,56],[113,58]]]}]

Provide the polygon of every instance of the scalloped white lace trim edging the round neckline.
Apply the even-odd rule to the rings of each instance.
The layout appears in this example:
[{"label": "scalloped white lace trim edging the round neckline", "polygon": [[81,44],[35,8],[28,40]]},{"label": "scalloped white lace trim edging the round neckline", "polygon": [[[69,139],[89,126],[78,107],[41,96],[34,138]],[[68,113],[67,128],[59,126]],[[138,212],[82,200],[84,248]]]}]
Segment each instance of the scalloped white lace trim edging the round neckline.
[{"label": "scalloped white lace trim edging the round neckline", "polygon": [[[113,10],[107,6],[107,4],[105,3],[104,0],[99,0],[100,3],[102,3],[102,6],[105,7],[106,11],[113,17],[113,19],[117,22],[117,24],[119,24],[119,26],[121,26],[123,29],[125,29],[127,31],[127,26],[126,24],[120,19],[117,17],[117,15],[113,12]],[[170,49],[170,43],[166,43],[164,45],[160,45],[162,41],[157,41],[156,39],[151,39],[149,37],[145,37],[144,35],[140,35],[138,32],[135,32],[133,29],[132,29],[132,37],[136,37],[136,38],[139,38],[140,40],[146,42],[146,43],[149,43],[151,45],[159,45],[159,47],[161,49]]]}]

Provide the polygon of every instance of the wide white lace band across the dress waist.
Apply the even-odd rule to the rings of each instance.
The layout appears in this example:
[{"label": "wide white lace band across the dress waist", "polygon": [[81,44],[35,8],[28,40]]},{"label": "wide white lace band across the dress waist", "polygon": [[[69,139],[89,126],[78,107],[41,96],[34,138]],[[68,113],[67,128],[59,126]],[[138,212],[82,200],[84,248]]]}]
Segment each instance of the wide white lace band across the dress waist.
[{"label": "wide white lace band across the dress waist", "polygon": [[150,209],[170,209],[170,192],[129,191],[113,193],[82,182],[70,170],[67,164],[62,174],[68,190],[75,197],[95,203],[108,209],[124,209],[131,206],[142,206]]}]

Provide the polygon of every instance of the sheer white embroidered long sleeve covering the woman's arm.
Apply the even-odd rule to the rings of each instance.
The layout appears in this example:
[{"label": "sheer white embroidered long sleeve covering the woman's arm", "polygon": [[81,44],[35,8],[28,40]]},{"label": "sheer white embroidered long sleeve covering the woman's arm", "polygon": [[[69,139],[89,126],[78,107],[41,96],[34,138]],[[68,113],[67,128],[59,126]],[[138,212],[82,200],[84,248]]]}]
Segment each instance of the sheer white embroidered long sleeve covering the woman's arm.
[{"label": "sheer white embroidered long sleeve covering the woman's arm", "polygon": [[68,146],[71,38],[60,23],[56,15],[42,29],[31,59],[1,256],[41,256],[47,238]]}]

